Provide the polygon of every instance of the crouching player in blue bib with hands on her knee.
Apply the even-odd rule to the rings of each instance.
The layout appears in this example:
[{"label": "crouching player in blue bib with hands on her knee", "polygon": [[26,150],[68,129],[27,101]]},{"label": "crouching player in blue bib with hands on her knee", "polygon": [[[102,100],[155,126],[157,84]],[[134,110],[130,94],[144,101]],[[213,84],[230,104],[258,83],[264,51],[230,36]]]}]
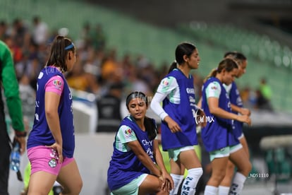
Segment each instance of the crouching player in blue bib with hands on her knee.
[{"label": "crouching player in blue bib with hands on her knee", "polygon": [[148,101],[135,91],[126,98],[130,115],[116,132],[107,182],[111,194],[169,194],[174,187],[164,167],[154,119],[145,116]]}]

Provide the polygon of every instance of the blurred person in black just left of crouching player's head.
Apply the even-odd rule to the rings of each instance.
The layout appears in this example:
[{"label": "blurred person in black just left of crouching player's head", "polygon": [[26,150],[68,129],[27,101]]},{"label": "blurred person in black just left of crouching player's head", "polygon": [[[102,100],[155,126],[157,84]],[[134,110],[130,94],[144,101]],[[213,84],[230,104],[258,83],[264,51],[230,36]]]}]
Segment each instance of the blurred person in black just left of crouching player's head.
[{"label": "blurred person in black just left of crouching player's head", "polygon": [[122,83],[113,83],[105,95],[97,98],[97,132],[116,132],[120,125]]}]

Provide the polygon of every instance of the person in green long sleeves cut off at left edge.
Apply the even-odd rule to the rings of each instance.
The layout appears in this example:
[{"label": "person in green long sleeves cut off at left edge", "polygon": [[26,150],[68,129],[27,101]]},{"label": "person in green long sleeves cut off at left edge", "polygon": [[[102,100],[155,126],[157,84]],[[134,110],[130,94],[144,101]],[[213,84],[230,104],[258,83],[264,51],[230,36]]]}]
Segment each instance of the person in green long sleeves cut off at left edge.
[{"label": "person in green long sleeves cut off at left edge", "polygon": [[[14,71],[13,58],[8,46],[0,40],[0,194],[8,194],[9,163],[11,140],[6,126],[4,99],[14,129],[14,139],[20,143],[20,154],[25,152],[25,126],[19,95],[18,81]],[[2,90],[3,89],[3,90]],[[4,92],[4,96],[2,93]]]}]

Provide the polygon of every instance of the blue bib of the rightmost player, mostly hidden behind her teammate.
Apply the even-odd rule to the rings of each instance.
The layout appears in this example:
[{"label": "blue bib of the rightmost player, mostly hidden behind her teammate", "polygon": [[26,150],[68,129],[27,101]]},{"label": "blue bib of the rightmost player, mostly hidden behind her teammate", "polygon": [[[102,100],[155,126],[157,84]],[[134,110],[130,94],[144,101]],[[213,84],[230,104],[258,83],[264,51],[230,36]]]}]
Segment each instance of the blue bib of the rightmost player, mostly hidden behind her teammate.
[{"label": "blue bib of the rightmost player, mostly hidden behind her teammate", "polygon": [[[227,93],[229,94],[229,99],[231,104],[236,105],[238,107],[243,107],[243,100],[241,99],[241,95],[238,91],[236,83],[233,81],[230,85],[224,85],[227,89]],[[236,111],[232,111],[234,114],[238,114]],[[239,137],[243,134],[243,122],[234,121],[235,129],[233,133],[236,137]]]}]

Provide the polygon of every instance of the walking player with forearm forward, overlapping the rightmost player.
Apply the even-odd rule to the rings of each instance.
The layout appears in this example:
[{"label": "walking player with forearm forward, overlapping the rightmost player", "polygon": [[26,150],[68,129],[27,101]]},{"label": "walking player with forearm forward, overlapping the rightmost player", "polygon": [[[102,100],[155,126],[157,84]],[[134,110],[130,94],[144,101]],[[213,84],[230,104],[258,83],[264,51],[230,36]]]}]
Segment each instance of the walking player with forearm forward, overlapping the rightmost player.
[{"label": "walking player with forearm forward, overlapping the rightmost player", "polygon": [[[205,194],[217,194],[219,184],[226,174],[226,165],[231,160],[238,168],[233,179],[232,193],[240,194],[243,183],[251,170],[251,163],[233,134],[233,120],[251,124],[248,115],[231,112],[231,103],[223,83],[230,85],[238,74],[238,65],[233,59],[223,59],[217,69],[212,70],[202,87],[202,109],[210,119],[202,128],[202,142],[209,152],[212,175],[205,187]],[[228,193],[228,192],[227,192]]]}]

